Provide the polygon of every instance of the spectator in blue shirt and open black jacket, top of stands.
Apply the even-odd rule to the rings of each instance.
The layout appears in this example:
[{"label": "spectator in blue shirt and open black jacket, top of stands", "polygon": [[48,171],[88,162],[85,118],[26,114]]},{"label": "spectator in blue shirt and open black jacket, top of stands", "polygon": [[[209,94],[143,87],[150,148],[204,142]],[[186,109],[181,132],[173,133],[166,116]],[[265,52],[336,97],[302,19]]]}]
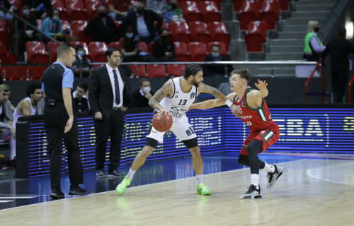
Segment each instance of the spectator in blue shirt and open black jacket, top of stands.
[{"label": "spectator in blue shirt and open black jacket, top of stands", "polygon": [[[157,22],[156,28],[154,21]],[[149,44],[157,39],[156,34],[160,32],[162,18],[151,10],[145,10],[143,2],[137,3],[137,13],[129,13],[127,18],[120,25],[121,30],[132,27],[134,35],[137,35],[142,42]]]}]

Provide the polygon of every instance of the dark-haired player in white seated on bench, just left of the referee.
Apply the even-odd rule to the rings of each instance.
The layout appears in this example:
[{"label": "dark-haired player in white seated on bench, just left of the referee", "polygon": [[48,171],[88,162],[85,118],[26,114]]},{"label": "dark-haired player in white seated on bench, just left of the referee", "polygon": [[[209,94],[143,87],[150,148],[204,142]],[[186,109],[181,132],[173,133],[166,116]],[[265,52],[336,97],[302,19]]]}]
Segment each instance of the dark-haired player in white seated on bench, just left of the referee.
[{"label": "dark-haired player in white seated on bench, just left of the referee", "polygon": [[[18,103],[15,111],[13,112],[12,127],[16,129],[16,121],[18,118],[28,115],[36,115],[44,113],[45,102],[42,100],[42,84],[30,84],[26,90],[27,97]],[[10,140],[10,158],[8,159],[8,166],[16,167],[16,142]]]}]

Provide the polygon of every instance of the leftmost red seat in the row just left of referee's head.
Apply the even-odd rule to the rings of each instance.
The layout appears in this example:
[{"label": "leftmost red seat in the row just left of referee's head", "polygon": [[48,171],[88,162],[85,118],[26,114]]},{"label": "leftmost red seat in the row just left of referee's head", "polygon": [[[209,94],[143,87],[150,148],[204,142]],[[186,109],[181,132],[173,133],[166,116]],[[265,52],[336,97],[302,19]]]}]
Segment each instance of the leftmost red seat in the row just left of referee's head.
[{"label": "leftmost red seat in the row just left of referee's head", "polygon": [[44,42],[27,42],[25,44],[27,61],[30,64],[49,64],[49,56],[45,51]]}]

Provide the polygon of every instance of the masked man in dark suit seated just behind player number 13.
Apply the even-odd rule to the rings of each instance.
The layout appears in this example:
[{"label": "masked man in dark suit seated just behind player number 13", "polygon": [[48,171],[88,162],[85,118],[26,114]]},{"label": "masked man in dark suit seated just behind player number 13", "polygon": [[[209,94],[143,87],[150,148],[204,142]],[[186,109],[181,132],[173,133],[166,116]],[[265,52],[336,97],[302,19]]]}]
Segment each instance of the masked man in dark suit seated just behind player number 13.
[{"label": "masked man in dark suit seated just behind player number 13", "polygon": [[155,93],[151,92],[151,85],[149,79],[143,78],[142,80],[140,80],[139,85],[140,89],[135,90],[132,93],[132,99],[134,102],[132,108],[150,107],[149,100]]}]

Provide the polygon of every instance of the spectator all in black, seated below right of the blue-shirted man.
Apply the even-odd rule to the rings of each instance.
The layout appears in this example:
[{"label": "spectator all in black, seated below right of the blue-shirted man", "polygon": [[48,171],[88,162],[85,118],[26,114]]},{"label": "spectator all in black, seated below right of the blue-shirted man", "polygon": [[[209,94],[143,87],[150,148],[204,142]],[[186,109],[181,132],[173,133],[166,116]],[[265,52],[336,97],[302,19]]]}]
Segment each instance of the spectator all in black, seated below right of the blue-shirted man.
[{"label": "spectator all in black, seated below right of the blue-shirted man", "polygon": [[176,62],[175,47],[166,28],[161,29],[160,38],[154,44],[154,56],[159,62]]}]

